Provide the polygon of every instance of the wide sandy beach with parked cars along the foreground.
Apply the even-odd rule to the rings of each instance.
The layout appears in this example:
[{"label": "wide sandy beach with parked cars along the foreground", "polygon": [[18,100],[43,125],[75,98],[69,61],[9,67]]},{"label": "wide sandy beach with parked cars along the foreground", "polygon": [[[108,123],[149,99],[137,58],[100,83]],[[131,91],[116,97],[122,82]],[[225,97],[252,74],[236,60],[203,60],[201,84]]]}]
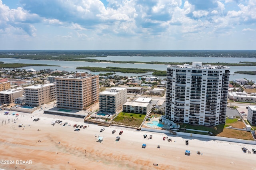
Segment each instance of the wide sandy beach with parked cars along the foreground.
[{"label": "wide sandy beach with parked cars along the foreground", "polygon": [[[242,147],[250,151],[256,148],[250,144],[168,136],[114,126],[104,127],[105,130],[100,132],[103,127],[84,123],[83,119],[39,111],[19,114],[14,123],[15,116],[0,111],[0,168],[5,170],[256,169],[256,154],[241,150]],[[33,121],[36,118],[40,120]],[[51,125],[57,119],[71,126]],[[23,124],[22,127],[18,127],[19,124]],[[87,125],[87,128],[76,132],[74,124]],[[112,134],[112,130],[116,132]],[[124,131],[122,135],[118,134],[120,130]],[[144,134],[153,137],[147,139]],[[97,142],[98,136],[103,137],[102,142]],[[116,136],[120,136],[120,141],[116,141]],[[164,136],[171,137],[172,142],[163,140]],[[186,139],[189,140],[188,146],[185,145]],[[146,144],[146,148],[142,148],[142,144]],[[185,150],[190,150],[191,155],[185,155]],[[197,151],[202,154],[197,154]]]}]

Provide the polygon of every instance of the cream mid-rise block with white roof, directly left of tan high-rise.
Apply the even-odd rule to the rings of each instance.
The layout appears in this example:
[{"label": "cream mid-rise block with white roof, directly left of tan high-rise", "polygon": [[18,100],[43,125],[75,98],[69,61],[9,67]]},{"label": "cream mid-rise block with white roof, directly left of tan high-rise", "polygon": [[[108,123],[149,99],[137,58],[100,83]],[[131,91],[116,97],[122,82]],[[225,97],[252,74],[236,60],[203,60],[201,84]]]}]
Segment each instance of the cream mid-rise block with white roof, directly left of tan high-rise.
[{"label": "cream mid-rise block with white roof, directly left of tan high-rise", "polygon": [[55,83],[24,87],[24,91],[26,105],[41,106],[56,99]]}]

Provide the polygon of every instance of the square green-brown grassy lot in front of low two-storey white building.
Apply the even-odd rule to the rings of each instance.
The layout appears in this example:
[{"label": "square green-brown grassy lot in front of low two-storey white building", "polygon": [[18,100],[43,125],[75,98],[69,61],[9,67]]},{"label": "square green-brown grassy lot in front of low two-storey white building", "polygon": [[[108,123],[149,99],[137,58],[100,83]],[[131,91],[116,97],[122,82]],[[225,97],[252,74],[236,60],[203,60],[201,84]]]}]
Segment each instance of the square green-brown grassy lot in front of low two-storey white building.
[{"label": "square green-brown grassy lot in front of low two-storey white building", "polygon": [[119,115],[112,121],[113,124],[125,125],[131,127],[140,127],[142,121],[146,115],[137,114],[137,113],[124,113],[121,112]]}]

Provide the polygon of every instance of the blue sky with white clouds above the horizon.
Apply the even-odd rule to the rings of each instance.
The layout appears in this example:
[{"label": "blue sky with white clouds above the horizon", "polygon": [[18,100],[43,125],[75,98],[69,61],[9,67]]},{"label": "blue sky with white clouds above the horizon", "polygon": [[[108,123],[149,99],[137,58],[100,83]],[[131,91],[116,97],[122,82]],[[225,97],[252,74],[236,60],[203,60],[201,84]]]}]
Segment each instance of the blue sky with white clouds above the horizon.
[{"label": "blue sky with white clouds above the horizon", "polygon": [[256,50],[256,0],[0,0],[0,50]]}]

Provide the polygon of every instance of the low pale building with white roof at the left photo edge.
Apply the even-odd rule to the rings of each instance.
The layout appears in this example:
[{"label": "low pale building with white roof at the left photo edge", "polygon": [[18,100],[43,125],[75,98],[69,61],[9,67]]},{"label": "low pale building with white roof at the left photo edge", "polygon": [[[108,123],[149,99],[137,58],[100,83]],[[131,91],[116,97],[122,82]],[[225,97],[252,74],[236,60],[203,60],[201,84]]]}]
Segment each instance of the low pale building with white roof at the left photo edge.
[{"label": "low pale building with white roof at the left photo edge", "polygon": [[15,103],[15,99],[22,97],[23,89],[9,89],[5,91],[0,91],[0,103],[10,104]]}]

